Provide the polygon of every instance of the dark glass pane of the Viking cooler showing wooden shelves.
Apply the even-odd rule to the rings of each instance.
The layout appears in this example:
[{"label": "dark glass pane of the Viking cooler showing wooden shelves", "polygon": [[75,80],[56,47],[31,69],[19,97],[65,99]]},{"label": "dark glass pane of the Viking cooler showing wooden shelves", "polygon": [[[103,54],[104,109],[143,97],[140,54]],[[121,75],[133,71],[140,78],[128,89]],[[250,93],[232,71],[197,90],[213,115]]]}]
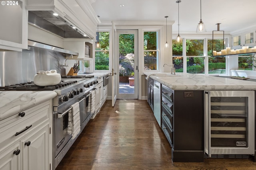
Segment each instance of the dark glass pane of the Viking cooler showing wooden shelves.
[{"label": "dark glass pane of the Viking cooler showing wooden shelves", "polygon": [[248,146],[248,98],[211,97],[211,147]]}]

